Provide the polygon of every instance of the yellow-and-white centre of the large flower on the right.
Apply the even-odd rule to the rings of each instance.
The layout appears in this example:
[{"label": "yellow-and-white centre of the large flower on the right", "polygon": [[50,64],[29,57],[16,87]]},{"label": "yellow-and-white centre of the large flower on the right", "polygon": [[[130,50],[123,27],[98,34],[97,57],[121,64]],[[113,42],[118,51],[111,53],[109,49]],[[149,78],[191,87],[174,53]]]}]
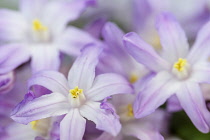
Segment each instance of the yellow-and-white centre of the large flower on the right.
[{"label": "yellow-and-white centre of the large flower on the right", "polygon": [[186,59],[179,58],[177,62],[174,63],[172,73],[178,79],[185,79],[189,76],[190,65]]}]

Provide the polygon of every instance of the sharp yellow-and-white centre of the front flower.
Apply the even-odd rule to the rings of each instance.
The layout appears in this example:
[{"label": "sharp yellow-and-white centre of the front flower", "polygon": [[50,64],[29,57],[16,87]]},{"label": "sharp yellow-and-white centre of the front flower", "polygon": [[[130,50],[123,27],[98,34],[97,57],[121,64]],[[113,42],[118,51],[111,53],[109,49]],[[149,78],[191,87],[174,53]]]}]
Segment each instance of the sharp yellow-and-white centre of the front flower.
[{"label": "sharp yellow-and-white centre of the front flower", "polygon": [[85,95],[83,89],[76,86],[74,89],[69,90],[69,101],[72,107],[79,107],[85,102]]}]

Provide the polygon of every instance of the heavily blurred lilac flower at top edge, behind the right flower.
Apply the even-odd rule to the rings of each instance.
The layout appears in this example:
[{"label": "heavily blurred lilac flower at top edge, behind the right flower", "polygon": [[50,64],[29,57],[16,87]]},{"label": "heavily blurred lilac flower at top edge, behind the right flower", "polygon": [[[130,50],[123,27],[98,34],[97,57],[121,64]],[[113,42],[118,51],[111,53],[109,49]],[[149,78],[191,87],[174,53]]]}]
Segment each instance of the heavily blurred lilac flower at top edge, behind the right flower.
[{"label": "heavily blurred lilac flower at top edge, behind the right flower", "polygon": [[161,12],[175,15],[190,39],[195,39],[198,30],[209,20],[206,0],[132,0],[132,6],[133,30],[156,48],[161,46],[154,24]]}]

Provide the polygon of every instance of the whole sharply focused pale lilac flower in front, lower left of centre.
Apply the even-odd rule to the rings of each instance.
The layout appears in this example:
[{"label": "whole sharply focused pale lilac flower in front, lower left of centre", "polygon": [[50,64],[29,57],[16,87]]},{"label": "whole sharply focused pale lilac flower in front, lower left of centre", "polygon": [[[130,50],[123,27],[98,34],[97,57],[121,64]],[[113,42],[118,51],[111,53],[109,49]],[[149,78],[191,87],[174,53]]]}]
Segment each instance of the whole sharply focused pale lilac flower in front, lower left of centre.
[{"label": "whole sharply focused pale lilac flower in front, lower left of centre", "polygon": [[11,118],[28,124],[42,118],[65,115],[60,123],[60,139],[81,140],[86,119],[93,121],[96,128],[117,135],[121,125],[111,112],[100,109],[100,100],[119,94],[131,93],[132,88],[120,75],[107,73],[95,77],[95,67],[102,48],[86,46],[69,71],[68,81],[59,72],[42,71],[29,81],[42,85],[52,93],[39,98],[23,100],[14,109]]}]

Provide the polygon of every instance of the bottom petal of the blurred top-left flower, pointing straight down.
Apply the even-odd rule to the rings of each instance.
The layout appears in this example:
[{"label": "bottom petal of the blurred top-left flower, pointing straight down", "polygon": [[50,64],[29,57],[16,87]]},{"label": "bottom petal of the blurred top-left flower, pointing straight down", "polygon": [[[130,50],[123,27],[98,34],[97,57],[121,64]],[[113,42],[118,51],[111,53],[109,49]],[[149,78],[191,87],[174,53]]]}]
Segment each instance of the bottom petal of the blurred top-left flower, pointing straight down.
[{"label": "bottom petal of the blurred top-left flower, pointing straight down", "polygon": [[35,46],[31,49],[33,73],[41,70],[58,70],[60,67],[59,50],[54,46]]}]

